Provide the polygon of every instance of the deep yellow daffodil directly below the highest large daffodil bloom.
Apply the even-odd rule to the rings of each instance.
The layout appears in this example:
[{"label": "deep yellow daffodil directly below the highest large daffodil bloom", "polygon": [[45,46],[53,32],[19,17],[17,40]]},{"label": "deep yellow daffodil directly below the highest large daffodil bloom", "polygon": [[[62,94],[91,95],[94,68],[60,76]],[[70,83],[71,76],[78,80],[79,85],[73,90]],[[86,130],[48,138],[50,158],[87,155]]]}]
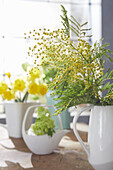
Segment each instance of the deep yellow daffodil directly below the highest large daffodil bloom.
[{"label": "deep yellow daffodil directly below the highest large daffodil bloom", "polygon": [[35,82],[32,82],[28,85],[28,93],[29,94],[38,94],[39,93],[39,85]]}]

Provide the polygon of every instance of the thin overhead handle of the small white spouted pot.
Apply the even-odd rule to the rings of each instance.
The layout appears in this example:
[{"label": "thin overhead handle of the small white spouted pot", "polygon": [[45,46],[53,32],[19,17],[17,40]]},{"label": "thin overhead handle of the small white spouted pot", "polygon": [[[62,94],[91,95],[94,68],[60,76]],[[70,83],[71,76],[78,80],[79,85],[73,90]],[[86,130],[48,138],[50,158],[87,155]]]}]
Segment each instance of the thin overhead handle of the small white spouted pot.
[{"label": "thin overhead handle of the small white spouted pot", "polygon": [[[40,105],[33,105],[33,106],[29,106],[26,110],[26,113],[25,113],[25,116],[24,116],[24,119],[23,119],[23,123],[22,123],[22,134],[25,134],[25,126],[26,126],[26,121],[27,121],[27,117],[28,117],[28,114],[29,114],[29,111],[32,109],[32,108],[36,108],[36,107],[53,107],[55,109],[55,107],[53,105],[44,105],[44,104],[40,104]],[[62,121],[61,121],[61,117],[60,115],[58,115],[58,119],[59,119],[59,126],[60,126],[60,130],[63,129],[63,125],[62,125]]]}]

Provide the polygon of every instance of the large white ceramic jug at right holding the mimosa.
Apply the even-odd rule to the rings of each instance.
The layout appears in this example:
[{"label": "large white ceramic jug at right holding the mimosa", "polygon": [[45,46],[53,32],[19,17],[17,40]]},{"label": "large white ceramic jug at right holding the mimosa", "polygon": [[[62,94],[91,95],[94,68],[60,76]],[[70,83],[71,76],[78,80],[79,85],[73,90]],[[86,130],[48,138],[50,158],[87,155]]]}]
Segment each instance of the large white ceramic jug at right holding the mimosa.
[{"label": "large white ceramic jug at right holding the mimosa", "polygon": [[[91,109],[88,147],[80,138],[76,122],[80,114]],[[113,170],[113,106],[89,106],[77,112],[73,119],[74,133],[96,170]]]}]

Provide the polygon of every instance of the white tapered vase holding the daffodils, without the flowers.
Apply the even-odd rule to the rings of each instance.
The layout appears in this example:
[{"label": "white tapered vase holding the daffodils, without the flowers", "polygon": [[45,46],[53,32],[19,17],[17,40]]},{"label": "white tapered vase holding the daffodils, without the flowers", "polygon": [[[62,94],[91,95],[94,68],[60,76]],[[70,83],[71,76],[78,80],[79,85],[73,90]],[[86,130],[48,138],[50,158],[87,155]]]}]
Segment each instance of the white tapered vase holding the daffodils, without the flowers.
[{"label": "white tapered vase holding the daffodils, without the flowers", "polygon": [[[22,122],[26,109],[36,103],[5,103],[7,130],[10,137],[22,137]],[[29,118],[29,121],[31,119]]]}]

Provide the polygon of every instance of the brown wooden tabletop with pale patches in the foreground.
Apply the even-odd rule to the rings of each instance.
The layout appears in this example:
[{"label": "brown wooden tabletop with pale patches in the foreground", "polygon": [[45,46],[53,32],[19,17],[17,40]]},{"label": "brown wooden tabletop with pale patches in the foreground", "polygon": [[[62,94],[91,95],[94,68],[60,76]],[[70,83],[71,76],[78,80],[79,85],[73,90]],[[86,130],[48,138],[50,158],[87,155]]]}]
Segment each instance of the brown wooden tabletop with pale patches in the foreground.
[{"label": "brown wooden tabletop with pale patches in the foreground", "polygon": [[[86,141],[87,133],[80,133]],[[31,153],[22,138],[9,138],[7,130],[0,127],[0,170],[21,169],[93,170],[72,130],[62,138],[54,153],[41,156]]]}]

